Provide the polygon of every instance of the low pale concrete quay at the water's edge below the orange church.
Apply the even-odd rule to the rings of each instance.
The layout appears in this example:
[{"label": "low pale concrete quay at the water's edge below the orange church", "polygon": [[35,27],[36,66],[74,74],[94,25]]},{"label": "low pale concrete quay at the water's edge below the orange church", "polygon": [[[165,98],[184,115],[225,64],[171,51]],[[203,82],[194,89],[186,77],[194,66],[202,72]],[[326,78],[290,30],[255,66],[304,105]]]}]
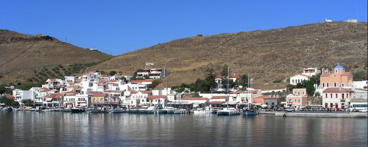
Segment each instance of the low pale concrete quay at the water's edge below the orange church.
[{"label": "low pale concrete quay at the water's edge below the orange church", "polygon": [[[298,113],[298,112],[264,112],[259,114],[271,114],[275,117],[317,117],[317,118],[368,118],[368,113],[350,112],[350,113]],[[285,115],[285,116],[284,116]]]}]

